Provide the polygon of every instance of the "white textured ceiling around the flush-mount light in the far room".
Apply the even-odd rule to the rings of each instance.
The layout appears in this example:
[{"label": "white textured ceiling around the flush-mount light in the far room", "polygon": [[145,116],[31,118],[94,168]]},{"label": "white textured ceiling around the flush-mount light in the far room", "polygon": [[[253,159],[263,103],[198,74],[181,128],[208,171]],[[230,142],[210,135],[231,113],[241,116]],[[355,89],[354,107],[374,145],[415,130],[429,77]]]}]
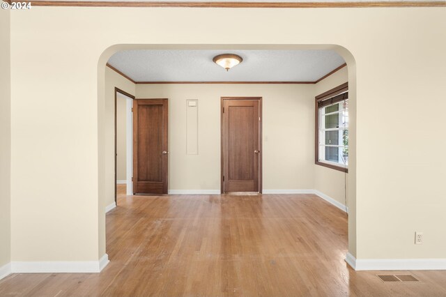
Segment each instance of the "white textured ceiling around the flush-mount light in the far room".
[{"label": "white textured ceiling around the flush-mount light in the far room", "polygon": [[[243,62],[226,72],[212,61],[226,53]],[[314,82],[344,63],[330,50],[128,50],[109,59],[135,82]]]}]

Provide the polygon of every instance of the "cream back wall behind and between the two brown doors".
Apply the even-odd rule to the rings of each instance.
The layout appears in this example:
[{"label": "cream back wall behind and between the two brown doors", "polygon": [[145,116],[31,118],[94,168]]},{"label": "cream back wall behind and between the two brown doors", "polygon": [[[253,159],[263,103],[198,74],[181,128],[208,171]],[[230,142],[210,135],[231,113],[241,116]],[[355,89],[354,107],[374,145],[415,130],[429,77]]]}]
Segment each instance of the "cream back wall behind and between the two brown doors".
[{"label": "cream back wall behind and between the two brown doors", "polygon": [[[312,84],[137,84],[137,98],[169,98],[169,190],[220,192],[220,98],[231,96],[262,97],[263,190],[313,189],[313,94]],[[191,99],[199,106],[198,155],[186,153]]]}]

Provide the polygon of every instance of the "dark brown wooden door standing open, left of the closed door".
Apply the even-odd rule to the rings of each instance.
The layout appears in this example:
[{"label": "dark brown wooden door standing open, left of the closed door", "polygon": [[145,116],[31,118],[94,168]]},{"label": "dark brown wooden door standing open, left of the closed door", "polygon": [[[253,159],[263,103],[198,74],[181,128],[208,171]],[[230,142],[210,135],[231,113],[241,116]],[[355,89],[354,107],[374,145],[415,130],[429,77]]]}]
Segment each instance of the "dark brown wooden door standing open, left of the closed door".
[{"label": "dark brown wooden door standing open, left of the closed door", "polygon": [[133,102],[133,192],[167,194],[167,99]]}]

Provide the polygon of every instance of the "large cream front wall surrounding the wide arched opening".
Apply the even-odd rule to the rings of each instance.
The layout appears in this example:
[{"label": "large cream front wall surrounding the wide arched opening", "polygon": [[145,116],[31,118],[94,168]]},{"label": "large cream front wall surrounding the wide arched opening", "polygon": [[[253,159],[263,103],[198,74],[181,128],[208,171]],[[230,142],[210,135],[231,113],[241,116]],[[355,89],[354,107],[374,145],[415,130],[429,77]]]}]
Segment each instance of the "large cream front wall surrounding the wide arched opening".
[{"label": "large cream front wall surrounding the wide arched opening", "polygon": [[[12,13],[13,260],[88,261],[104,254],[103,207],[113,189],[104,66],[117,50],[151,45],[343,54],[351,84],[349,250],[359,259],[446,259],[446,160],[433,153],[446,144],[438,137],[446,124],[439,114],[446,109],[445,13],[68,7]],[[221,22],[222,15],[231,22]],[[420,121],[408,125],[413,119]],[[413,135],[417,141],[408,142]],[[424,232],[423,245],[413,244],[415,230]]]}]

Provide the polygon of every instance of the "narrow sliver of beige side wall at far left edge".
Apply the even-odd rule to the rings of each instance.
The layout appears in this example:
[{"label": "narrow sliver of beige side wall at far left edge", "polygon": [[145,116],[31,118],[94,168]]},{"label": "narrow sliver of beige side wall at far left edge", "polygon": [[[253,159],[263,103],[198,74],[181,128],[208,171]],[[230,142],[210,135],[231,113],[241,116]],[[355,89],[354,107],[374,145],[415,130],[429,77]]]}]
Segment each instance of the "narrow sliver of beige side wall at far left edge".
[{"label": "narrow sliver of beige side wall at far left edge", "polygon": [[0,268],[10,262],[10,10],[0,10]]}]

